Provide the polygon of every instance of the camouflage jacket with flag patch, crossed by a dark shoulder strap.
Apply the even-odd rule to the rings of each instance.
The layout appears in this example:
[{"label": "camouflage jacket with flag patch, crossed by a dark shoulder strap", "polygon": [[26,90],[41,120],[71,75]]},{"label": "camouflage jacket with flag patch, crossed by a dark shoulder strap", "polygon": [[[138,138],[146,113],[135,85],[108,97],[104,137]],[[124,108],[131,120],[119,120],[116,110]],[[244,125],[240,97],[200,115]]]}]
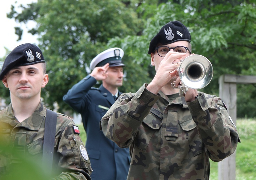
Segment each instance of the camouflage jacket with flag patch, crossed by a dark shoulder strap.
[{"label": "camouflage jacket with flag patch, crossed by a dark shoulder strap", "polygon": [[[0,142],[6,147],[15,147],[11,149],[16,153],[1,151],[0,148],[0,179],[3,174],[15,174],[12,170],[13,164],[24,163],[20,158],[17,159],[17,156],[30,157],[34,160],[32,162],[35,163],[34,165],[42,165],[45,119],[46,107],[42,102],[34,113],[22,122],[19,122],[14,116],[11,104],[0,111]],[[73,126],[75,124],[72,119],[58,113],[52,166],[56,177],[52,179],[91,179],[89,175],[92,171],[90,160],[86,156],[84,144],[79,134],[75,133]],[[32,173],[32,170],[29,172]]]}]

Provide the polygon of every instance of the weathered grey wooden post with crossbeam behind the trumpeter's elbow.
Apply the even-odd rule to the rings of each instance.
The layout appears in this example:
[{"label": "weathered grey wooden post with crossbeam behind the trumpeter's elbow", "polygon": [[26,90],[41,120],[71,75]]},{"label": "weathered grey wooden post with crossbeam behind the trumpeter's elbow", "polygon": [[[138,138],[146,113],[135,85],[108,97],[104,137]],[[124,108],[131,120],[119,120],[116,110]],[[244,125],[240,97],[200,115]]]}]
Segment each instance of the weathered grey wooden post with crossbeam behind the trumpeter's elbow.
[{"label": "weathered grey wooden post with crossbeam behind the trumpeter's elbow", "polygon": [[[256,83],[256,76],[221,75],[219,78],[219,97],[228,108],[228,113],[236,124],[237,119],[237,83]],[[236,152],[218,162],[218,180],[236,179]]]}]

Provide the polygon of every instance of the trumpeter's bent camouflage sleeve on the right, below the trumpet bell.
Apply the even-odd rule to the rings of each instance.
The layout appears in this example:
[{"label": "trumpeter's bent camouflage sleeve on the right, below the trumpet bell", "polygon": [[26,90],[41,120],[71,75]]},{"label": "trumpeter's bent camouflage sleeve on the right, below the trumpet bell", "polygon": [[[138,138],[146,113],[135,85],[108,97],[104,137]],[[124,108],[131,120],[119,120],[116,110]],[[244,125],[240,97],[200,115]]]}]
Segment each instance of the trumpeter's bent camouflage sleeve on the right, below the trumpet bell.
[{"label": "trumpeter's bent camouflage sleeve on the right, below the trumpet bell", "polygon": [[210,159],[217,162],[231,155],[240,140],[221,98],[199,93],[187,104]]}]

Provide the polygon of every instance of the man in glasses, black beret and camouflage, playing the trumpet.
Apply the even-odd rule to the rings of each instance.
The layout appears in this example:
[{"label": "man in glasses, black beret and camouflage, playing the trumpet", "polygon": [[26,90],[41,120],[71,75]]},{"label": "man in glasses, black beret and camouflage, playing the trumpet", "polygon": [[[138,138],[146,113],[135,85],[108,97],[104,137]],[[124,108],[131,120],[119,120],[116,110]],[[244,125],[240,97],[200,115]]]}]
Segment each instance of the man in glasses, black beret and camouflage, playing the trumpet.
[{"label": "man in glasses, black beret and camouflage, playing the trumpet", "polygon": [[130,147],[127,180],[208,180],[209,158],[221,161],[237,147],[239,136],[223,101],[180,84],[180,60],[191,55],[191,36],[171,21],[152,38],[148,54],[156,74],[135,93],[126,93],[101,119],[104,134]]}]

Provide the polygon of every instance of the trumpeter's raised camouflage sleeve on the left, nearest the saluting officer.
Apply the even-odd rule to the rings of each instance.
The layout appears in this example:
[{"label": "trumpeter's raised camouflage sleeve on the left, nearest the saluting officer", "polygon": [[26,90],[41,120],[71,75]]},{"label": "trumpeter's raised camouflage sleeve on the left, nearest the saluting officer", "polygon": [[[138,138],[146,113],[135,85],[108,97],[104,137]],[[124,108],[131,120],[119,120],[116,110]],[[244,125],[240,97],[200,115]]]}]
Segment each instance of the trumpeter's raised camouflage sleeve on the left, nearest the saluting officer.
[{"label": "trumpeter's raised camouflage sleeve on the left, nearest the saluting officer", "polygon": [[129,147],[143,119],[160,98],[146,89],[144,84],[135,94],[126,93],[118,97],[100,121],[104,135],[119,147]]}]

